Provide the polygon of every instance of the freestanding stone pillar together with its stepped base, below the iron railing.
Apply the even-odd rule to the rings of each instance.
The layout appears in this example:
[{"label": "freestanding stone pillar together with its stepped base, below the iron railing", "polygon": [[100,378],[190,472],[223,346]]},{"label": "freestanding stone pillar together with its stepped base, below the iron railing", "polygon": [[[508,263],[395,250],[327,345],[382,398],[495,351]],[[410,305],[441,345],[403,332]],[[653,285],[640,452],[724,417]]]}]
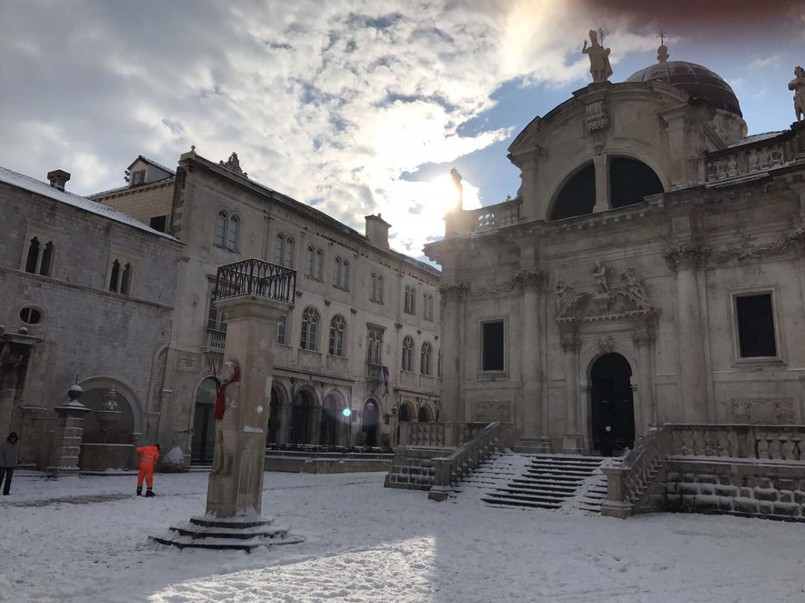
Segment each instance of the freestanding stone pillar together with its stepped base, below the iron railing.
[{"label": "freestanding stone pillar together with its stepped base, below the iron railing", "polygon": [[225,410],[216,421],[206,514],[171,527],[157,542],[179,547],[252,549],[301,542],[261,516],[277,322],[287,303],[255,295],[216,302],[226,313]]}]

